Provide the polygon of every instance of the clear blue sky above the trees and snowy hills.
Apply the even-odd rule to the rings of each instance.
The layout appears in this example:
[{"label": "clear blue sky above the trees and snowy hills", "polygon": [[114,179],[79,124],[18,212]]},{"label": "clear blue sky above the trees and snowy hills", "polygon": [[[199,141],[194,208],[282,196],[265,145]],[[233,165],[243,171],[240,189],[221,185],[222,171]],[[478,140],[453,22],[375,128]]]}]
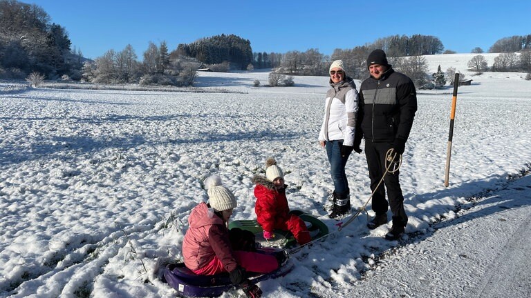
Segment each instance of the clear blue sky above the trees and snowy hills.
[{"label": "clear blue sky above the trees and snowy hills", "polygon": [[179,1],[36,0],[66,28],[72,45],[94,59],[149,41],[169,50],[202,37],[236,34],[253,52],[354,48],[395,34],[438,37],[445,50],[487,52],[498,39],[531,34],[531,1]]}]

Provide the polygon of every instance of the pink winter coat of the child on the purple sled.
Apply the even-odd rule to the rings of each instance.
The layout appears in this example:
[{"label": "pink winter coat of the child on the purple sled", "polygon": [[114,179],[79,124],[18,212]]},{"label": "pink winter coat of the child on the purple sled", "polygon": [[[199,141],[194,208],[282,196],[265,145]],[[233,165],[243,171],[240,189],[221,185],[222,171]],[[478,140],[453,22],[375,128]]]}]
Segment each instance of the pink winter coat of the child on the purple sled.
[{"label": "pink winter coat of the child on the purple sled", "polygon": [[199,203],[188,217],[189,228],[183,241],[185,265],[198,270],[218,257],[227,272],[238,266],[232,252],[229,230],[221,217],[214,214],[206,203]]}]

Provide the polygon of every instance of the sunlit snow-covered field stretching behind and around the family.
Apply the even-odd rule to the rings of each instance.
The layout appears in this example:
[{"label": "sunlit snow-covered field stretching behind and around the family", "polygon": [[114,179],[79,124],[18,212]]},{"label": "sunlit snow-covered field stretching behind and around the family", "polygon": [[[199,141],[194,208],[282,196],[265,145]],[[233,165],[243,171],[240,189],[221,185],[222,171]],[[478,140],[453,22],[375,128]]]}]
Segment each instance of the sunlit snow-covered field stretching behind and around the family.
[{"label": "sunlit snow-covered field stretching behind and around the family", "polygon": [[[427,57],[430,70],[452,66],[474,81],[459,88],[448,188],[452,89],[418,92],[400,168],[410,235],[429,235],[468,198],[502,190],[531,168],[531,81],[472,76],[473,55]],[[364,281],[378,275],[374,259],[399,245],[382,238],[390,225],[369,231],[361,215],[338,232],[323,209],[333,190],[317,143],[328,79],[252,87],[267,77],[202,72],[196,84],[239,93],[0,92],[0,297],[173,297],[157,264],[181,257],[189,210],[207,199],[203,180],[217,174],[234,192],[233,219],[256,218],[251,178],[267,157],[286,173],[291,208],[333,234],[292,255],[286,277],[262,281],[265,297],[326,297],[356,288],[366,270]],[[360,207],[370,195],[364,155],[351,156],[347,176]]]}]

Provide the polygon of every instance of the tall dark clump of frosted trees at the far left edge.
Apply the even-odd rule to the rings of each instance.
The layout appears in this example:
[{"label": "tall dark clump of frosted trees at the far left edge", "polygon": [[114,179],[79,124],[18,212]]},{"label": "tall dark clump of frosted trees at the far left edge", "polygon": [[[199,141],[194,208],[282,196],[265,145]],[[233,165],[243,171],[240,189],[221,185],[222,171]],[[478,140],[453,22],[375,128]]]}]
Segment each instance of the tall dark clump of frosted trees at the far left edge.
[{"label": "tall dark clump of frosted trees at the far left edge", "polygon": [[50,23],[35,4],[0,0],[0,77],[23,79],[30,72],[80,78],[82,53],[71,50],[66,29]]}]

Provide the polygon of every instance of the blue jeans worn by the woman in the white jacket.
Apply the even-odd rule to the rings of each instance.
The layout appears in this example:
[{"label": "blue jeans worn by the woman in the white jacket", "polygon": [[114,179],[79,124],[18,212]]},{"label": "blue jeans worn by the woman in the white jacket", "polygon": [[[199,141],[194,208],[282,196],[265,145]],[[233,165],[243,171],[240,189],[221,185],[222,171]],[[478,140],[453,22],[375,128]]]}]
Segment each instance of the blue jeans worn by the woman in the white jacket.
[{"label": "blue jeans worn by the woman in the white jacket", "polygon": [[334,192],[341,194],[348,192],[348,181],[346,180],[345,165],[348,156],[341,156],[341,146],[343,140],[326,141],[326,155],[330,162],[330,175],[334,182]]}]

